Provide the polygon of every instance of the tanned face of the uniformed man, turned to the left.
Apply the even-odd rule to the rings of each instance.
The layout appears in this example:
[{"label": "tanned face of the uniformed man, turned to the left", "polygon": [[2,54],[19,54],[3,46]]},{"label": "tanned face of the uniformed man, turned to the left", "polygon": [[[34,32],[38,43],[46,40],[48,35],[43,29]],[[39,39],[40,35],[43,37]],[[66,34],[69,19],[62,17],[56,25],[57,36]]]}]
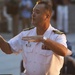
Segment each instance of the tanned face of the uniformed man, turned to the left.
[{"label": "tanned face of the uniformed man, turned to the left", "polygon": [[32,12],[32,24],[37,26],[43,25],[46,19],[44,4],[37,4]]}]

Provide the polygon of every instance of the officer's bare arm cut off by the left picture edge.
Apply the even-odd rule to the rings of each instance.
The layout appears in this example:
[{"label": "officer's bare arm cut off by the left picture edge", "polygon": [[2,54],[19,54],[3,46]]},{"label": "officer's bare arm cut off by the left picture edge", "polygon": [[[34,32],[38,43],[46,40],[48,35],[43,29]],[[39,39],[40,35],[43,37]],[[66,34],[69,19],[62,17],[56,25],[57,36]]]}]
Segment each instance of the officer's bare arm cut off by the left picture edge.
[{"label": "officer's bare arm cut off by the left picture edge", "polygon": [[6,54],[13,53],[10,45],[7,43],[7,41],[1,35],[0,35],[0,48]]}]

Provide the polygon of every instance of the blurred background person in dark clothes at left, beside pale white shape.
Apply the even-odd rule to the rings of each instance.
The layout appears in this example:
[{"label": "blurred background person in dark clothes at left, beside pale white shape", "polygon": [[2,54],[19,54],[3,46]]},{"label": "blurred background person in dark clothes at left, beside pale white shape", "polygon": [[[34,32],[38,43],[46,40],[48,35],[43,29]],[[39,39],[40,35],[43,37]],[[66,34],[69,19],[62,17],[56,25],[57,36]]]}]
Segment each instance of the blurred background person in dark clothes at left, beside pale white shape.
[{"label": "blurred background person in dark clothes at left, beside pale white shape", "polygon": [[9,32],[11,30],[13,32],[13,36],[16,36],[18,34],[19,11],[20,11],[19,3],[20,0],[5,0],[4,16],[8,20]]}]

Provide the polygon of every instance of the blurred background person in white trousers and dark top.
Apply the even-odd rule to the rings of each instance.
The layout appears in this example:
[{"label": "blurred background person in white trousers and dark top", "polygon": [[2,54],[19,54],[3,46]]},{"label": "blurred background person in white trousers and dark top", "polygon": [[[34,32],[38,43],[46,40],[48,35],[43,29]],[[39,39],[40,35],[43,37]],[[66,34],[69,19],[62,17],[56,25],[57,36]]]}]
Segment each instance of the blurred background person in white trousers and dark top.
[{"label": "blurred background person in white trousers and dark top", "polygon": [[69,32],[68,19],[69,19],[69,0],[58,0],[57,5],[57,28],[63,30],[65,33]]}]

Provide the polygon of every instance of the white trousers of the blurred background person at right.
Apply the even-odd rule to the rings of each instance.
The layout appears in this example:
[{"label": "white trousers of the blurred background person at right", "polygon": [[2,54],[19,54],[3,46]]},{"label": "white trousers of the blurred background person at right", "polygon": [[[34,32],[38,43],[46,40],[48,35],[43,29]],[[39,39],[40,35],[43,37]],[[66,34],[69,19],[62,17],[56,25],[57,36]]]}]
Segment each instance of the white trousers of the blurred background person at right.
[{"label": "white trousers of the blurred background person at right", "polygon": [[57,6],[57,28],[68,33],[68,6]]}]

